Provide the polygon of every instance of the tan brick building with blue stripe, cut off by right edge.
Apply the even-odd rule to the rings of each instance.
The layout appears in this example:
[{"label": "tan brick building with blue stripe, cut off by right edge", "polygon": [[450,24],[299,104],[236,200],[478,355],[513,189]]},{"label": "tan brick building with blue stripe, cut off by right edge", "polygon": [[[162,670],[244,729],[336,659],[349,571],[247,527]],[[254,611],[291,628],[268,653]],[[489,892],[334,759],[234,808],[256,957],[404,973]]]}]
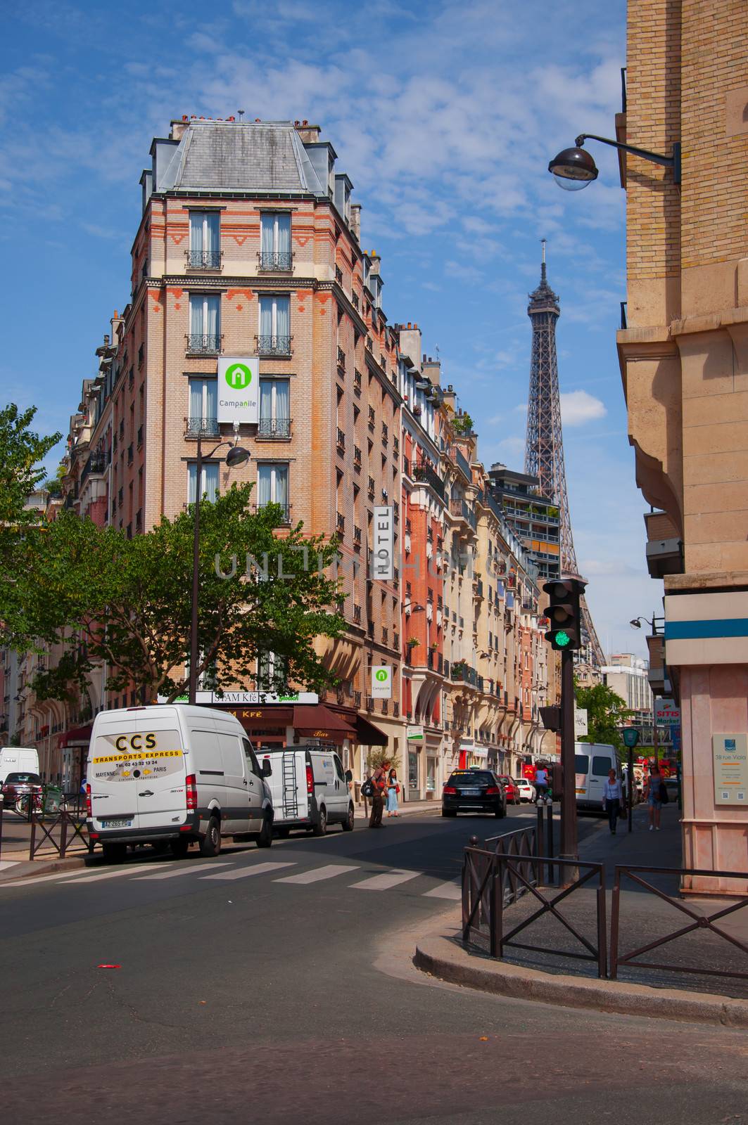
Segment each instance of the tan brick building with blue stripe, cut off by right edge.
[{"label": "tan brick building with blue stripe, cut off by right edge", "polygon": [[[665,579],[650,681],[682,706],[686,866],[746,871],[748,838],[748,28],[736,0],[629,0],[618,137],[617,334],[647,561]],[[659,622],[658,622],[659,624]],[[727,755],[723,753],[729,749]],[[730,759],[729,766],[722,758]],[[741,890],[706,879],[698,890]]]}]

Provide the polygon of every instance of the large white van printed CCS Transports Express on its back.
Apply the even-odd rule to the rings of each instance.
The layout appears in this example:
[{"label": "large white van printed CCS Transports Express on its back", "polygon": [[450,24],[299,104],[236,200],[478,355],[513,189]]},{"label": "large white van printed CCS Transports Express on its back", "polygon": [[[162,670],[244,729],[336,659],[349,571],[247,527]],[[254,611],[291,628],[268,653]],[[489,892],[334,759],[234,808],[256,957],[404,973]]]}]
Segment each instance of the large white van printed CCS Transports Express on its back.
[{"label": "large white van printed CCS Transports Express on its back", "polygon": [[222,836],[273,843],[273,801],[232,714],[184,704],[100,711],[88,752],[88,830],[107,858],[127,845],[184,856],[221,850]]}]

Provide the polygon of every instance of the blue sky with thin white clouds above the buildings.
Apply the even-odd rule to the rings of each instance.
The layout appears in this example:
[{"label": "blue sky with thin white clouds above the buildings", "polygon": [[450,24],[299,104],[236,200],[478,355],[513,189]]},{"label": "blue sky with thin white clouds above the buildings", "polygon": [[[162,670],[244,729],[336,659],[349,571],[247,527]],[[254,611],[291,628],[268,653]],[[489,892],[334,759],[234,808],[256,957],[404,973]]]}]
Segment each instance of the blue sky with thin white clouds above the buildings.
[{"label": "blue sky with thin white clouds above the buildings", "polygon": [[[66,432],[114,308],[127,300],[137,181],[182,114],[308,118],[363,204],[384,308],[438,346],[479,452],[522,468],[527,292],[549,240],[577,557],[603,647],[643,651],[629,619],[658,604],[644,567],[615,351],[624,192],[613,150],[562,192],[549,159],[620,109],[625,2],[29,0],[6,14],[2,237],[12,285],[3,398]],[[29,377],[29,367],[33,377]]]}]

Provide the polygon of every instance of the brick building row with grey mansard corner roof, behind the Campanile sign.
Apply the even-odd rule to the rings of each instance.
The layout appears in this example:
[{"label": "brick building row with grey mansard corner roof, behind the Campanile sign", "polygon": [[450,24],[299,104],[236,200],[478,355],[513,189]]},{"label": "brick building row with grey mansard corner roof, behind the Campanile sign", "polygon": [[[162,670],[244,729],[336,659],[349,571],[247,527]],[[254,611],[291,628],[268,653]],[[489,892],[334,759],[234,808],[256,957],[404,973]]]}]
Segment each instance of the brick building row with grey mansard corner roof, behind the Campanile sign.
[{"label": "brick building row with grey mansard corner roof, behind the Campanile sign", "polygon": [[[458,762],[518,770],[541,753],[547,694],[534,572],[439,364],[416,326],[388,322],[382,263],[360,249],[360,207],[332,145],[306,123],[185,118],[153,141],[141,187],[131,299],[71,417],[62,503],[127,536],[181,511],[196,495],[198,434],[204,457],[233,435],[217,420],[219,357],[259,357],[259,423],[239,434],[251,459],[229,470],[224,447],[199,487],[210,498],[250,480],[288,525],[340,539],[347,628],[323,652],[340,686],[315,704],[314,729],[356,777],[386,745],[410,799],[438,794]],[[393,507],[392,582],[367,566],[379,504]],[[371,695],[379,664],[393,669],[390,700]],[[52,729],[45,718],[57,729],[47,775],[72,781],[91,716],[140,698],[135,685],[107,696],[103,677],[78,709],[30,693],[25,745]],[[217,705],[260,745],[311,730],[292,706]]]}]

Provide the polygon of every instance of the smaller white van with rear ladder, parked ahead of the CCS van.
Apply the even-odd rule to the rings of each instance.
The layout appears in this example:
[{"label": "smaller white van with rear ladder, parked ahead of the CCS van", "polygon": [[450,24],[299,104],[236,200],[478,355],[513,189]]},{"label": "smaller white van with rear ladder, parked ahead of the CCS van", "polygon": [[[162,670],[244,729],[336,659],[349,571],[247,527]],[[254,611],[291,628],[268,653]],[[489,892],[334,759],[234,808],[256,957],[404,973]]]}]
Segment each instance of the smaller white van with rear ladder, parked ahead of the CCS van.
[{"label": "smaller white van with rear ladder, parked ahead of the CCS van", "polygon": [[273,794],[274,827],[287,836],[292,828],[309,828],[324,836],[328,825],[339,824],[346,832],[354,828],[354,802],[348,790],[353,774],[344,771],[335,750],[320,746],[294,746],[285,750],[260,750],[271,767],[268,784]]}]

